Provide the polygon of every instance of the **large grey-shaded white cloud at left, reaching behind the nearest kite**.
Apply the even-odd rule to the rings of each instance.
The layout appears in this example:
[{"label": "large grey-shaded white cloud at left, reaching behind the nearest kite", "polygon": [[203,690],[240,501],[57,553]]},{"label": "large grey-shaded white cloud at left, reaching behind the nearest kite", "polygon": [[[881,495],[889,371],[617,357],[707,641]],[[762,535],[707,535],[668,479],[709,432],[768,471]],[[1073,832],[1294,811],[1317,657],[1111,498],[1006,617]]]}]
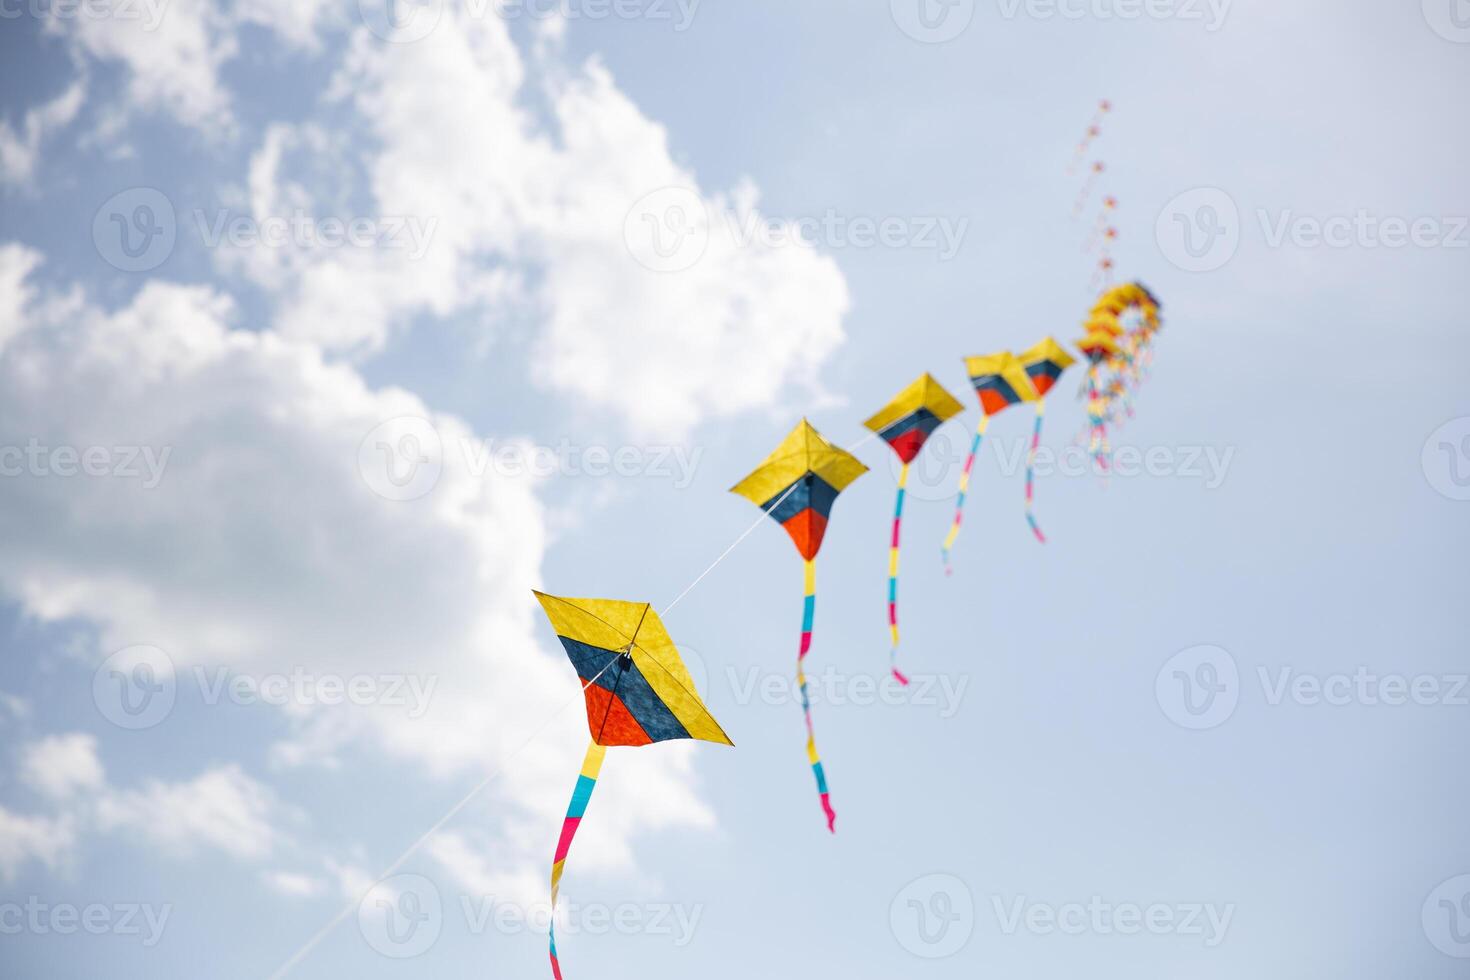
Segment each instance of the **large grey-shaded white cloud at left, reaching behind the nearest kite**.
[{"label": "large grey-shaded white cloud at left, reaching behind the nearest kite", "polygon": [[[0,307],[28,310],[0,350],[7,429],[46,447],[171,453],[153,489],[121,476],[0,480],[0,589],[41,620],[96,624],[98,655],[162,648],[181,685],[215,666],[254,679],[438,679],[422,717],[293,701],[272,758],[351,758],[368,799],[401,793],[404,779],[503,770],[470,813],[490,829],[497,867],[542,873],[587,735],[575,674],[531,598],[547,541],[535,483],[475,476],[457,447],[478,439],[462,422],[409,392],[369,389],[312,345],[231,329],[234,306],[210,289],[154,281],[106,311],[74,294],[22,304],[24,288],[10,276],[0,291]],[[403,416],[434,423],[442,472],[419,500],[385,500],[359,451]],[[607,867],[626,862],[639,833],[710,824],[691,749],[637,754],[609,793],[626,793],[617,813],[589,829],[610,836]],[[272,827],[288,817],[234,767],[98,804],[103,827],[251,860],[275,854]]]}]

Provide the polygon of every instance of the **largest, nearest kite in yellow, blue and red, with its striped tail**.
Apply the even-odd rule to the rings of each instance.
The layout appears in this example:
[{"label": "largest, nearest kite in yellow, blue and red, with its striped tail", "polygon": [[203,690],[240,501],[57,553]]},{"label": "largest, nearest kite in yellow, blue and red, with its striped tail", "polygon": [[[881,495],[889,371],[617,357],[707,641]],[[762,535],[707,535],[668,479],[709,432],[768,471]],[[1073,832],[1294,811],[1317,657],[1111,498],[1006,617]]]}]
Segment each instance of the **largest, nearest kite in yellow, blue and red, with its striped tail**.
[{"label": "largest, nearest kite in yellow, blue and red, with its striped tail", "polygon": [[[587,727],[592,736],[551,862],[551,909],[556,911],[566,855],[592,798],[609,745],[650,745],[667,739],[734,742],[704,707],[684,658],[647,602],[535,595],[582,679]],[[554,920],[551,976],[562,980]]]}]

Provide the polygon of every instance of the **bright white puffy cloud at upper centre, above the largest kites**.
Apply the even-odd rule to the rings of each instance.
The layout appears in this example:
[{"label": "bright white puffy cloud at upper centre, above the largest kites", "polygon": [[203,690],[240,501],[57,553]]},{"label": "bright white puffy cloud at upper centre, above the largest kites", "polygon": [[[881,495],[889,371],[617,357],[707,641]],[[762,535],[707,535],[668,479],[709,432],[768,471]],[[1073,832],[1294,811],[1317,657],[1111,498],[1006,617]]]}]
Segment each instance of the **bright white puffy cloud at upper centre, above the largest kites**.
[{"label": "bright white puffy cloud at upper centre, above the largest kites", "polygon": [[[366,160],[376,213],[434,222],[434,235],[417,260],[316,250],[244,264],[279,289],[278,329],[356,353],[415,316],[481,309],[491,329],[529,317],[541,328],[535,378],[614,410],[639,435],[681,436],[704,417],[769,408],[792,383],[817,389],[848,309],[836,264],[795,235],[742,239],[723,217],[691,267],[639,264],[625,239],[629,212],[651,191],[698,181],[607,71],[539,57],[528,79],[500,19],[453,7],[413,44],[357,31],[334,93],[381,147]],[[550,123],[531,103],[545,103]],[[304,138],[268,131],[250,166],[254,207],[284,197],[300,206],[282,150]],[[350,172],[315,182],[319,207]],[[716,216],[760,219],[748,182],[697,200]]]}]

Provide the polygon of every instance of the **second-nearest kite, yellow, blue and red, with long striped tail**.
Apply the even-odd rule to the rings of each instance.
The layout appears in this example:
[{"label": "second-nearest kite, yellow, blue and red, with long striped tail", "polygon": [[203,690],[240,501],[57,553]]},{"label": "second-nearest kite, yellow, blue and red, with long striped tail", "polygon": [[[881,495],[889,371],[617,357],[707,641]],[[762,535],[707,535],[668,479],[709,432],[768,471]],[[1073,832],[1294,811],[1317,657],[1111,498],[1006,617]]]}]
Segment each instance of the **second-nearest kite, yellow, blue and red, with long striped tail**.
[{"label": "second-nearest kite, yellow, blue and red, with long striped tail", "polygon": [[801,644],[797,648],[797,686],[801,691],[801,711],[807,720],[807,761],[817,780],[817,796],[822,813],[826,814],[828,830],[836,832],[836,813],[828,792],[826,770],[817,755],[816,733],[811,727],[811,699],[807,696],[807,674],[804,670],[807,652],[811,649],[811,620],[816,614],[816,557],[826,533],[828,517],[836,495],[848,483],[867,472],[851,453],[839,450],[803,419],[791,430],[776,451],[756,470],[731,488],[750,502],[766,511],[791,535],[791,541],[806,563],[806,599],[801,611]]}]

